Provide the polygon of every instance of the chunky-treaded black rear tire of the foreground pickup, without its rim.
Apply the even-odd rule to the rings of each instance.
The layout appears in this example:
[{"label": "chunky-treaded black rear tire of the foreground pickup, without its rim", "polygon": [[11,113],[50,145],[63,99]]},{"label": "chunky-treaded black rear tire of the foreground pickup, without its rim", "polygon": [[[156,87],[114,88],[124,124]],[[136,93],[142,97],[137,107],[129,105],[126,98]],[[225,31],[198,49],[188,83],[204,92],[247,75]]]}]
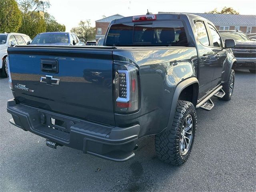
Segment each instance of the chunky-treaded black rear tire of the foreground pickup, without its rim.
[{"label": "chunky-treaded black rear tire of the foreground pickup, without its rim", "polygon": [[[181,130],[189,114],[193,120],[192,140],[186,154],[182,154],[180,150]],[[194,105],[188,101],[178,100],[171,129],[155,136],[156,154],[160,160],[175,166],[180,166],[188,160],[194,143],[196,121],[196,109]]]}]

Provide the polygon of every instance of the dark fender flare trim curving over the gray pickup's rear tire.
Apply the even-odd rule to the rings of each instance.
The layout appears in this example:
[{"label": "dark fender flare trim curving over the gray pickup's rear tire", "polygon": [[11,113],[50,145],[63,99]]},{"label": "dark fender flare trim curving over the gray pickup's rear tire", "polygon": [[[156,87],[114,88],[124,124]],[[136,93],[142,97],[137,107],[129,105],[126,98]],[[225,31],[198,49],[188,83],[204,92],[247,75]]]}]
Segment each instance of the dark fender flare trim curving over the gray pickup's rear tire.
[{"label": "dark fender flare trim curving over the gray pickup's rear tire", "polygon": [[[184,88],[186,88],[186,87],[188,87],[192,84],[198,84],[199,85],[198,80],[197,80],[196,77],[188,78],[188,79],[180,82],[177,85],[177,87],[174,91],[173,98],[172,98],[172,106],[171,106],[171,110],[170,110],[170,115],[169,115],[169,120],[168,120],[166,131],[170,130],[171,127],[172,127],[172,121],[173,121],[173,118],[174,118],[174,114],[175,114],[175,111],[176,111],[176,106],[177,106],[177,102],[178,102],[178,98],[180,96],[180,93],[182,92],[182,90],[184,90]],[[198,93],[198,91],[197,91],[197,93]]]}]

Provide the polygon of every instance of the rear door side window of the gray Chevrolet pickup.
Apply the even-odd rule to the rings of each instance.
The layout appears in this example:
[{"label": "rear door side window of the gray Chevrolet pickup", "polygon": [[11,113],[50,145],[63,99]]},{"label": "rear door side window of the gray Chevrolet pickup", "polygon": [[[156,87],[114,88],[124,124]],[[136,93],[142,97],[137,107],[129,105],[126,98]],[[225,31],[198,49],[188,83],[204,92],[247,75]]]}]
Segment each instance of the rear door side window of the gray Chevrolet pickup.
[{"label": "rear door side window of the gray Chevrolet pickup", "polygon": [[205,46],[210,46],[210,41],[206,32],[206,27],[203,21],[194,20],[194,25],[196,28],[196,34],[200,43]]}]

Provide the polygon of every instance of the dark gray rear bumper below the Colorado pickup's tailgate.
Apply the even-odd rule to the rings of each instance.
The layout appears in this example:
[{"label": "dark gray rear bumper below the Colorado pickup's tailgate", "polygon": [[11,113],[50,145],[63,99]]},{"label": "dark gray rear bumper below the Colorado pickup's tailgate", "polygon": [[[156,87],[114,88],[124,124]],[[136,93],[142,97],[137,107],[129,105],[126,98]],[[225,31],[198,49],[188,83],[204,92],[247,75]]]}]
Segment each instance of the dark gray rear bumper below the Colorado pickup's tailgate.
[{"label": "dark gray rear bumper below the Colorado pickup's tailgate", "polygon": [[[57,144],[118,162],[134,156],[132,151],[138,141],[139,125],[127,128],[104,126],[24,104],[16,104],[13,99],[8,100],[7,112],[12,115],[10,123]],[[51,118],[61,120],[65,126],[51,124]]]}]

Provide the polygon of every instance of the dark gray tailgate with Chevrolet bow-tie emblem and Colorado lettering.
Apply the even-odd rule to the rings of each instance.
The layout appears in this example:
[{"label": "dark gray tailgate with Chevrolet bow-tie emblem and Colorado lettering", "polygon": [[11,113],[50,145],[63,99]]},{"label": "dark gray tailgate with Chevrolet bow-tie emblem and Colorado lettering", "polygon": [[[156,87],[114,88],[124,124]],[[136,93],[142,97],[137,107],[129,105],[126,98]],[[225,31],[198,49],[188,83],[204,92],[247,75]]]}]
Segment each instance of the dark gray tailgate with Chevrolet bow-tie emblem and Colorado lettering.
[{"label": "dark gray tailgate with Chevrolet bow-tie emblem and Colorado lettering", "polygon": [[8,49],[18,102],[114,126],[112,48]]}]

